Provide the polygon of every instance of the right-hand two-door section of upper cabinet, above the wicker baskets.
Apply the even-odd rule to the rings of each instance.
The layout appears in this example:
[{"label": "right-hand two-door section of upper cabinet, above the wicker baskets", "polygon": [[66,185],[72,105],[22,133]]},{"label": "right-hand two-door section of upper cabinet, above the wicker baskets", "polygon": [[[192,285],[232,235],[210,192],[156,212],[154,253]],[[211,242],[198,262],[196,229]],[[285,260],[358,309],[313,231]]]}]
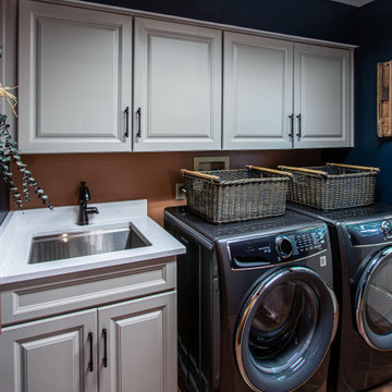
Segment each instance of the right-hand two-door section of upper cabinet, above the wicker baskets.
[{"label": "right-hand two-door section of upper cabinet, above the wicker baskets", "polygon": [[351,51],[224,34],[223,149],[348,147]]}]

